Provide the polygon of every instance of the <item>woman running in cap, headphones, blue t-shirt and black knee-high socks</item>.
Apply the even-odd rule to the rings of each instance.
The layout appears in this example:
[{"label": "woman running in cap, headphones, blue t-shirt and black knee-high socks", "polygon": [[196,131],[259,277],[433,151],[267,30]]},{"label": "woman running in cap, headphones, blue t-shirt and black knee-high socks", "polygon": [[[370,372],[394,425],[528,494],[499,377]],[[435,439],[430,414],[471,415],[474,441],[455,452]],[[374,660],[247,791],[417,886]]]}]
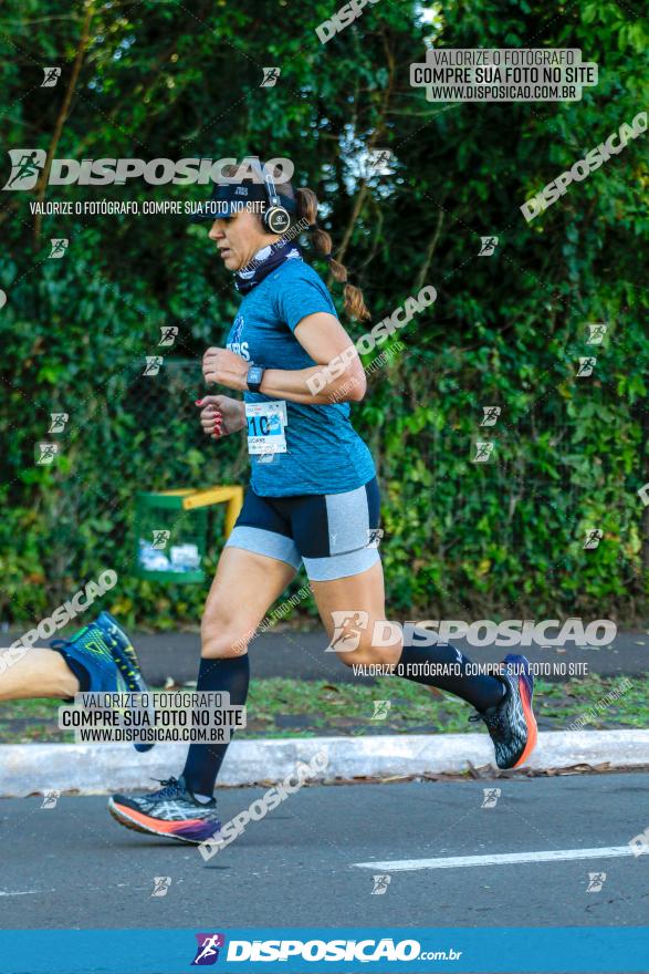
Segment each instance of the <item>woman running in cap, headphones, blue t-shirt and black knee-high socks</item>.
[{"label": "woman running in cap, headphones, blue t-shirt and black knee-high socks", "polygon": [[[373,645],[374,623],[386,619],[381,562],[371,543],[379,490],[370,453],[349,422],[349,403],[365,394],[365,373],[325,283],[291,242],[300,228],[308,229],[333,277],[346,282],[345,311],[359,321],[369,314],[316,222],[315,194],[290,182],[279,193],[274,175],[260,166],[257,178],[217,186],[203,215],[242,294],[226,348],[205,353],[203,377],[243,398],[201,400],[200,421],[213,439],[247,429],[252,475],[207,599],[197,688],[227,692],[231,705],[245,703],[248,643],[304,563],[329,639],[338,646],[345,636],[357,643],[339,653],[344,663],[394,666],[398,676],[456,694],[477,711],[470,719],[485,723],[498,766],[517,767],[536,743],[524,656],[506,656],[498,675],[472,675],[467,656],[448,644],[428,645],[426,630],[419,644],[416,629],[411,645],[400,636]],[[213,789],[227,746],[192,744],[179,778],[147,795],[115,795],[111,814],[128,828],[185,842],[216,836]]]}]

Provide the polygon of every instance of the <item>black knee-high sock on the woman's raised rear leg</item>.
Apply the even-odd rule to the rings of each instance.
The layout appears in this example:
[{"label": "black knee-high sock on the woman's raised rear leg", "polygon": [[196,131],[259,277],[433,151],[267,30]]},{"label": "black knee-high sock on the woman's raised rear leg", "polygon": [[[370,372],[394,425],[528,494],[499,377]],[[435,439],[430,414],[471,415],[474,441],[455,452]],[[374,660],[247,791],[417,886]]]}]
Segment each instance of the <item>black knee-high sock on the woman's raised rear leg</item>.
[{"label": "black knee-high sock on the woman's raised rear leg", "polygon": [[[428,630],[415,629],[415,639],[416,633],[419,633],[422,641],[430,639]],[[448,643],[436,643],[432,646],[415,643],[415,645],[404,646],[395,675],[411,680],[414,683],[425,683],[427,686],[438,686],[440,690],[454,693],[456,696],[462,697],[474,706],[477,711],[494,707],[504,696],[503,681],[496,676],[489,676],[486,673],[468,674],[465,667],[470,662],[471,660],[464,656],[460,650]],[[444,664],[448,665],[448,670]]]}]

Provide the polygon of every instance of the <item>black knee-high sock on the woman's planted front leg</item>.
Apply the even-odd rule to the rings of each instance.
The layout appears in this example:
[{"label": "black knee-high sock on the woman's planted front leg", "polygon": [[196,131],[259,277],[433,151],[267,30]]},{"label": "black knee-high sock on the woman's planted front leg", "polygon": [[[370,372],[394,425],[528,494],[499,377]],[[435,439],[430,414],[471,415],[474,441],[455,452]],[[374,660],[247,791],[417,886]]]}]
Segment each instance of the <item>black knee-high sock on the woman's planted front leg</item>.
[{"label": "black knee-high sock on the woman's planted front leg", "polygon": [[[248,696],[250,662],[248,653],[230,660],[201,660],[197,690],[230,694],[232,706],[242,706]],[[211,795],[226,757],[228,744],[190,744],[185,763],[185,784],[195,795]]]}]

